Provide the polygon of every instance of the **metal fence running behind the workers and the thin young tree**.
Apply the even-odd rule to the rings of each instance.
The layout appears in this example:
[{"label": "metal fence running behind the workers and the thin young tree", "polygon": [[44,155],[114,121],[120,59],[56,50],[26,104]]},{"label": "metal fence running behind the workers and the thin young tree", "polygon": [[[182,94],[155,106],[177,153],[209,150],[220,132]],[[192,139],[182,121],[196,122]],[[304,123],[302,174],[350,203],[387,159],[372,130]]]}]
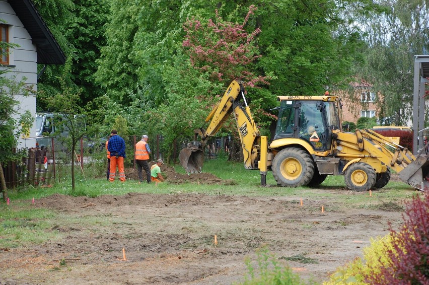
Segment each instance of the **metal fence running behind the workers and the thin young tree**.
[{"label": "metal fence running behind the workers and the thin young tree", "polygon": [[[127,168],[135,168],[134,148],[140,136],[131,135],[126,139],[126,159],[124,165]],[[20,158],[10,161],[3,166],[8,188],[17,188],[27,185],[34,187],[49,187],[55,182],[70,179],[70,168],[75,165],[75,177],[78,179],[106,177],[107,156],[105,140],[98,139],[97,144],[81,143],[76,146],[75,153],[63,146],[56,146],[52,139],[52,147],[24,148],[15,150]],[[156,135],[150,138],[149,144],[152,150],[150,159],[156,161],[161,158],[170,165],[179,163],[180,150],[187,146],[187,140],[175,140],[172,145],[166,146],[163,137]],[[85,146],[85,147],[84,147]],[[204,150],[205,159],[217,159],[220,155],[233,153],[233,147],[228,144],[228,138],[213,138],[209,140]]]}]

